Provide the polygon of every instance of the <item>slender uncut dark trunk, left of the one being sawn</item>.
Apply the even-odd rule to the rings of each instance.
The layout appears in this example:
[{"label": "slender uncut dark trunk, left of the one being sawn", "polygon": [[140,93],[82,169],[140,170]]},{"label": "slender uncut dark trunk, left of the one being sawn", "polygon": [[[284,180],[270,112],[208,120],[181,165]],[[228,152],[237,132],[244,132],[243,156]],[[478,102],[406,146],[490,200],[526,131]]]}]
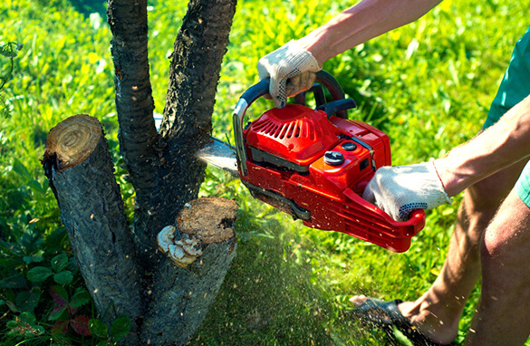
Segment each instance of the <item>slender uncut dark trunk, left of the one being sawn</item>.
[{"label": "slender uncut dark trunk, left of the one being sawn", "polygon": [[140,254],[152,255],[146,229],[159,204],[160,158],[149,82],[147,0],[110,0],[111,53],[114,62],[120,152],[136,191],[134,234]]}]

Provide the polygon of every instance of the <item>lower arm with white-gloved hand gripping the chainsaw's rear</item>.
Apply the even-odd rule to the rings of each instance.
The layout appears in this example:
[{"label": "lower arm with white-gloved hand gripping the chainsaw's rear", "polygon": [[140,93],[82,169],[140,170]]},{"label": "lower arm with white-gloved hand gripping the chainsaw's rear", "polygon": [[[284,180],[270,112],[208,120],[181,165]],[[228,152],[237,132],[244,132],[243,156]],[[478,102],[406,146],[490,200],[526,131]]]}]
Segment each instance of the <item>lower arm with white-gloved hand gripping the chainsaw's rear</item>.
[{"label": "lower arm with white-gloved hand gripping the chainsaw's rear", "polygon": [[530,96],[467,143],[441,159],[379,169],[363,198],[398,221],[416,208],[430,209],[467,187],[530,156]]}]

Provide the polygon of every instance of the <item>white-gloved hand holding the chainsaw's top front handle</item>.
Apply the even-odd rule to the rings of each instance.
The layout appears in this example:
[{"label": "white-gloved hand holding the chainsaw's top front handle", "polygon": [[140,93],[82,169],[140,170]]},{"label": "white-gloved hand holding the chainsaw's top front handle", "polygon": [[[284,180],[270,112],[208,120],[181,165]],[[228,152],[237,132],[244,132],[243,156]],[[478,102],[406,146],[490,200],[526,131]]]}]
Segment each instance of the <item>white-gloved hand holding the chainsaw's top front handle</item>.
[{"label": "white-gloved hand holding the chainsaw's top front handle", "polygon": [[290,41],[257,62],[259,80],[270,77],[269,93],[276,108],[284,108],[288,96],[313,86],[314,72],[321,67],[313,54],[296,41]]}]

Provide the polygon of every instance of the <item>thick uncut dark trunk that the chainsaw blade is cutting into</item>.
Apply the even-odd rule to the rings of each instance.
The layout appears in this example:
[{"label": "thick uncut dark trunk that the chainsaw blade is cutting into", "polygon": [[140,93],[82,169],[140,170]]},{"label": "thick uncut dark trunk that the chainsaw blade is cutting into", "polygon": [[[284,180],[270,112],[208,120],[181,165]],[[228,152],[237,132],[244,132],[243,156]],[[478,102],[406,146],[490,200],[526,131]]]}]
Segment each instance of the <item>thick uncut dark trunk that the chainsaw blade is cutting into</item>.
[{"label": "thick uncut dark trunk that the chainsaw blade is cutting into", "polygon": [[165,202],[170,225],[184,203],[198,196],[205,164],[194,153],[210,137],[217,81],[226,53],[236,0],[191,0],[178,33],[160,135],[167,143]]}]

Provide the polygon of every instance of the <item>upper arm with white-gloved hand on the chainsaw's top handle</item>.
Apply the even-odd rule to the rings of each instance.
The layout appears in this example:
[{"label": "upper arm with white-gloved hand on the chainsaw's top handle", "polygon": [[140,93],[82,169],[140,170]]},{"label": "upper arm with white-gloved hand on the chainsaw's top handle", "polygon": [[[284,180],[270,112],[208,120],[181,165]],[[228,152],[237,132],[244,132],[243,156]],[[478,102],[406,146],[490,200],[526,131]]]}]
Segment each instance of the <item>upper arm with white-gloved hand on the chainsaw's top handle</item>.
[{"label": "upper arm with white-gloved hand on the chainsaw's top handle", "polygon": [[270,96],[278,108],[287,96],[313,85],[323,62],[373,37],[409,24],[441,0],[363,0],[304,38],[284,44],[260,59],[260,80],[271,78]]}]

